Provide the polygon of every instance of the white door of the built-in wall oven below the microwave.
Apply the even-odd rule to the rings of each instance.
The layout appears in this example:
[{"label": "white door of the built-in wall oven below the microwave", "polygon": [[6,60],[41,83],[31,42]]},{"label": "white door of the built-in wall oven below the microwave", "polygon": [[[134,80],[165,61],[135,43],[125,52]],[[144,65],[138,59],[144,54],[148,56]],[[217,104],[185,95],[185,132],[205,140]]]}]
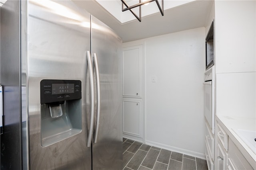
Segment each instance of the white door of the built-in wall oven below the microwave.
[{"label": "white door of the built-in wall oven below the microwave", "polygon": [[214,113],[212,109],[212,81],[204,82],[204,116],[214,134]]}]

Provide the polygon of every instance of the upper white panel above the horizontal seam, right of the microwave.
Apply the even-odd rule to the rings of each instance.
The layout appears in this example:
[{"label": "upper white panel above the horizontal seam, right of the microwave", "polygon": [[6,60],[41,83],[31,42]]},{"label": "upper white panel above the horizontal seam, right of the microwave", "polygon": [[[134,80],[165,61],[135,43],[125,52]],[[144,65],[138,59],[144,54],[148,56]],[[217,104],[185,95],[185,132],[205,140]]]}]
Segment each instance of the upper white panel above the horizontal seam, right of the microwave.
[{"label": "upper white panel above the horizontal seam, right of the microwave", "polygon": [[255,0],[215,1],[216,73],[255,72],[255,6]]}]

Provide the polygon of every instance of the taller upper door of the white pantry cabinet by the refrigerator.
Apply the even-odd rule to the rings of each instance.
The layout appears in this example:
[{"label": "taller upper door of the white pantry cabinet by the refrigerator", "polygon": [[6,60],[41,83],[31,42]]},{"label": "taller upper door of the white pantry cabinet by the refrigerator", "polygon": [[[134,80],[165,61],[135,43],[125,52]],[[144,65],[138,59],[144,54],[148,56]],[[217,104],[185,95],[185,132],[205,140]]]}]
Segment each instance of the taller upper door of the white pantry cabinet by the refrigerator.
[{"label": "taller upper door of the white pantry cabinet by the refrigerator", "polygon": [[123,97],[142,97],[142,45],[123,48]]}]

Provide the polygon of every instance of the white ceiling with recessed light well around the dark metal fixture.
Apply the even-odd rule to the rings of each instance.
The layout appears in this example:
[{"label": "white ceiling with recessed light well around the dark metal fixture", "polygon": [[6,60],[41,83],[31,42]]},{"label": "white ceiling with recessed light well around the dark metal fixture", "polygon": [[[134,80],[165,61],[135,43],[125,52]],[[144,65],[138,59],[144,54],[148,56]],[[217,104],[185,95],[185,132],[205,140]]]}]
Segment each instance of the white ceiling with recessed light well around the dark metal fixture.
[{"label": "white ceiling with recessed light well around the dark metal fixture", "polygon": [[[5,1],[0,0],[2,3]],[[120,0],[98,0],[98,2],[96,0],[73,1],[114,29],[123,42],[205,27],[208,10],[212,4],[212,0],[164,0],[164,16],[162,16],[156,3],[151,2],[148,6],[151,5],[156,10],[143,6],[142,21],[139,22],[130,14],[130,11],[122,12],[122,2]],[[136,1],[138,0],[126,0],[128,3],[138,3]],[[109,11],[100,5],[102,2],[105,3],[104,6]],[[156,13],[150,14],[148,11]],[[118,15],[122,15],[121,21],[120,18],[116,19]],[[130,21],[131,17],[134,20]]]}]

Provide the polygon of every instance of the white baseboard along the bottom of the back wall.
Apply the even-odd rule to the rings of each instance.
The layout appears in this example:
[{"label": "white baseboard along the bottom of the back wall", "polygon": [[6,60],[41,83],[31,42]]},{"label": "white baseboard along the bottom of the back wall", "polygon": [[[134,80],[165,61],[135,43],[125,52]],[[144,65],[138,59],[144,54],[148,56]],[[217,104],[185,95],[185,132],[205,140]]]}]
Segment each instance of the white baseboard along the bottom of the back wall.
[{"label": "white baseboard along the bottom of the back wall", "polygon": [[172,146],[169,146],[169,145],[165,145],[165,144],[157,143],[157,142],[153,142],[153,141],[148,141],[148,140],[146,140],[146,144],[150,145],[150,146],[158,147],[158,148],[161,148],[161,149],[171,150],[171,151],[174,151],[174,152],[179,152],[179,153],[182,153],[182,154],[186,154],[186,155],[189,155],[189,156],[194,156],[194,157],[206,160],[206,157],[205,157],[204,153],[199,153],[199,152],[194,152],[192,150],[186,150],[186,149],[182,149],[182,148],[172,147]]}]

